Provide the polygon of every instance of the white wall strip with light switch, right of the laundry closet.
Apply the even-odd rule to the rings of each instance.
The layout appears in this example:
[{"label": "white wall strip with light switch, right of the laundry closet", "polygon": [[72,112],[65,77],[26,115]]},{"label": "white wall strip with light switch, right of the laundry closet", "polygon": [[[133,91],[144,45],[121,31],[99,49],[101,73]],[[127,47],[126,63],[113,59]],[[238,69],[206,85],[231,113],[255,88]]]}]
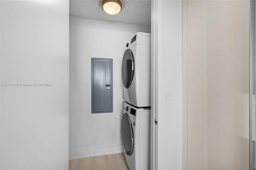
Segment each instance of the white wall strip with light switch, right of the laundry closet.
[{"label": "white wall strip with light switch, right of the laundry closet", "polygon": [[[157,9],[156,99],[157,168],[182,169],[182,1],[154,1]],[[154,14],[154,13],[153,13]],[[156,29],[156,30],[155,30]],[[166,93],[170,102],[166,103]],[[154,99],[155,100],[155,99]],[[152,164],[152,166],[154,166]]]}]

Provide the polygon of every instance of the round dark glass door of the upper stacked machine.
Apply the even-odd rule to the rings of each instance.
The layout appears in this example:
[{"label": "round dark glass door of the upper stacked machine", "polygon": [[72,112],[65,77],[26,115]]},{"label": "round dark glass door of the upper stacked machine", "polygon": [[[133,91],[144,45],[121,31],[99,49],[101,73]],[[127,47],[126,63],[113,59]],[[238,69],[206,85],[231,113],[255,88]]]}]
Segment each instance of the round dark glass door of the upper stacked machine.
[{"label": "round dark glass door of the upper stacked machine", "polygon": [[126,49],[124,51],[123,63],[122,63],[122,79],[123,84],[126,89],[132,84],[132,79],[134,75],[134,58],[132,51]]}]

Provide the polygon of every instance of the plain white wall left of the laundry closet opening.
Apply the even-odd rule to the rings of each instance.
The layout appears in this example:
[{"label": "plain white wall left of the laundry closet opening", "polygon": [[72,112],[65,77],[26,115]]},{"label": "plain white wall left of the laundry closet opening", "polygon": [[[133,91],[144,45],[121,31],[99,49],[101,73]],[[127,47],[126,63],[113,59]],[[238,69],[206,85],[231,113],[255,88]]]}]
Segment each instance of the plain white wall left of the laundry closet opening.
[{"label": "plain white wall left of the laundry closet opening", "polygon": [[0,1],[1,169],[68,169],[68,1]]}]

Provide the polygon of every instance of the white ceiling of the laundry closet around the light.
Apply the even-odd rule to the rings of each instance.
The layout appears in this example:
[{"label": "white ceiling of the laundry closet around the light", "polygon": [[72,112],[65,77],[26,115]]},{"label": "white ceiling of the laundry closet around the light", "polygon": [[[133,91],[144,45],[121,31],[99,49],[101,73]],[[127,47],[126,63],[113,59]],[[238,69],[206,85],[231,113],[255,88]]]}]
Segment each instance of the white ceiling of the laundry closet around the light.
[{"label": "white ceiling of the laundry closet around the light", "polygon": [[151,0],[120,1],[122,10],[110,15],[103,10],[102,0],[70,0],[70,16],[150,26]]}]

